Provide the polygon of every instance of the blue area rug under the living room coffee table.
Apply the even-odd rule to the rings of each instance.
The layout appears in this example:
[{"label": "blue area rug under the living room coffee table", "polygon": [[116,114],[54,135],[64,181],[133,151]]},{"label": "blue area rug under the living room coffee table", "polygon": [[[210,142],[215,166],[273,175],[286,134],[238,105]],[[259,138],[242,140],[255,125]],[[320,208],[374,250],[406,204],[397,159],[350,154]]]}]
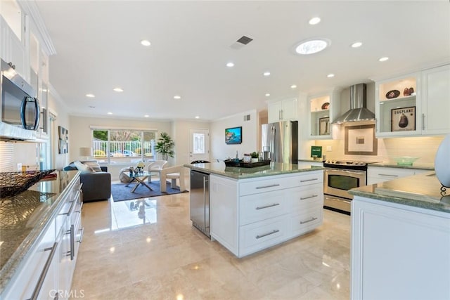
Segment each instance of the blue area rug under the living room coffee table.
[{"label": "blue area rug under the living room coffee table", "polygon": [[165,193],[160,191],[159,181],[152,181],[151,183],[147,183],[147,185],[150,186],[152,190],[148,190],[148,188],[146,188],[146,186],[144,185],[139,185],[139,187],[136,188],[134,193],[131,193],[131,190],[133,190],[136,183],[130,183],[128,186],[125,186],[127,185],[127,183],[115,183],[111,185],[111,195],[113,196],[114,202],[117,202],[117,201],[172,195],[187,192],[187,191],[180,192],[179,189],[170,188],[170,183],[166,184],[167,185]]}]

